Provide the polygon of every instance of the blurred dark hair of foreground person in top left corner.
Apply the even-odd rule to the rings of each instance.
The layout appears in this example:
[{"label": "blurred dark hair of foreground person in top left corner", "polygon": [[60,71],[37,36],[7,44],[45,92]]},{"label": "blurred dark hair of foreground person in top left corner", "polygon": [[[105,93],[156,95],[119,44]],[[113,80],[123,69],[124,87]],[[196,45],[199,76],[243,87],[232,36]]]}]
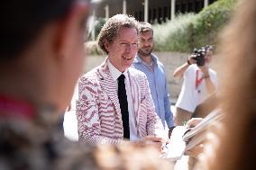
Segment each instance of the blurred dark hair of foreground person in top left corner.
[{"label": "blurred dark hair of foreground person in top left corner", "polygon": [[7,0],[0,5],[0,59],[18,56],[43,27],[69,12],[75,0]]}]

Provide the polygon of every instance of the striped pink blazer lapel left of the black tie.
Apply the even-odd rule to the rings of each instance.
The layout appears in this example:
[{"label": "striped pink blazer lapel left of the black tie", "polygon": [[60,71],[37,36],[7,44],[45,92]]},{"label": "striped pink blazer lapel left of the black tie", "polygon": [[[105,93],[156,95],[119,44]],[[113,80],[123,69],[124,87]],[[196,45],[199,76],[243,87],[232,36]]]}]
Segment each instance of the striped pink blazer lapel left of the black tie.
[{"label": "striped pink blazer lapel left of the black tie", "polygon": [[105,93],[108,95],[111,102],[114,103],[115,111],[122,122],[122,114],[118,100],[117,89],[114,85],[113,77],[111,76],[107,66],[107,59],[105,59],[105,62],[101,65],[101,67],[99,67],[99,83]]}]

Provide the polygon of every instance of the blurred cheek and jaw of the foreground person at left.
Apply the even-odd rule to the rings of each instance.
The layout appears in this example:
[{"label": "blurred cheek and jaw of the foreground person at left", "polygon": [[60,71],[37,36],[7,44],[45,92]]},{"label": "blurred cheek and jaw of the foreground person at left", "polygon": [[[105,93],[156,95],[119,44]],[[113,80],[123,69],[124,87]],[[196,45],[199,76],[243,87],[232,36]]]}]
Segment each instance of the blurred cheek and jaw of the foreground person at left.
[{"label": "blurred cheek and jaw of the foreground person at left", "polygon": [[[85,16],[86,17],[86,16]],[[72,30],[69,31],[69,46],[66,47],[66,59],[63,59],[60,69],[59,78],[59,103],[61,110],[65,111],[67,105],[72,98],[74,87],[78,82],[78,77],[81,76],[85,65],[85,33],[86,30],[81,26],[82,20],[74,23]]]}]

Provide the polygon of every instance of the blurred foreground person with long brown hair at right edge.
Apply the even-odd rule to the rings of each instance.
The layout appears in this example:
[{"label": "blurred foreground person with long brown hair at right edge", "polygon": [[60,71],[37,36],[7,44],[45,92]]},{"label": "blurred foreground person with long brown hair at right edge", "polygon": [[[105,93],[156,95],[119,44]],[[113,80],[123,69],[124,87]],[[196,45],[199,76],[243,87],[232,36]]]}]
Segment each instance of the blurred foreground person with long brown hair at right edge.
[{"label": "blurred foreground person with long brown hair at right edge", "polygon": [[239,2],[222,38],[221,69],[217,70],[220,107],[226,117],[217,133],[208,134],[211,144],[206,145],[196,169],[251,169],[256,160],[255,0]]}]

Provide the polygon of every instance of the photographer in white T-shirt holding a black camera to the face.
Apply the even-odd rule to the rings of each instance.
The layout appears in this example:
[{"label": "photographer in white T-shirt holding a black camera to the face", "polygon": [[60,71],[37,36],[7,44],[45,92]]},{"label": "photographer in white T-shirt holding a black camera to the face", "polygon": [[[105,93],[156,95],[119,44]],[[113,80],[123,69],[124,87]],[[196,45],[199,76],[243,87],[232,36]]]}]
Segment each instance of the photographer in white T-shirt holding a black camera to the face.
[{"label": "photographer in white T-shirt holding a black camera to the face", "polygon": [[212,46],[194,49],[187,62],[178,67],[173,76],[184,77],[181,92],[176,103],[175,125],[184,125],[191,119],[198,104],[215,92],[216,73],[209,67],[214,48]]}]

